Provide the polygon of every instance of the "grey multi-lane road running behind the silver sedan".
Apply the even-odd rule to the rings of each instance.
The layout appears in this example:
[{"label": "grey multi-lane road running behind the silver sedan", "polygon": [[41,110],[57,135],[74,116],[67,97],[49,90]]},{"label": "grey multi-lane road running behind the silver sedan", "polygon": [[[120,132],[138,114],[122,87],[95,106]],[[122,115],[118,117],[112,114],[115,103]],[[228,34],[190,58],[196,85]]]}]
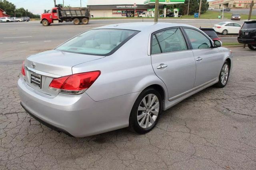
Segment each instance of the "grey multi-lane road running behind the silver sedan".
[{"label": "grey multi-lane road running behind the silver sedan", "polygon": [[[152,21],[152,19],[143,19],[144,22]],[[220,22],[220,20],[212,19],[159,19],[160,22],[173,22],[181,24],[189,24],[196,27],[212,27],[214,24]],[[229,21],[229,20],[221,20]],[[58,45],[73,36],[84,32],[88,29],[98,26],[104,26],[106,24],[117,24],[124,22],[142,22],[142,19],[112,19],[112,20],[90,20],[88,25],[75,26],[70,23],[52,24],[48,27],[43,27],[39,21],[20,22],[20,23],[0,23],[0,48],[13,47],[19,44],[18,49],[30,46],[31,44],[41,44],[42,46],[48,46],[49,42],[55,42]],[[238,21],[242,24],[243,21]],[[223,38],[223,42],[234,42],[236,37]],[[24,45],[25,44],[25,45]],[[52,43],[50,43],[52,44]],[[1,57],[0,57],[1,59]]]}]

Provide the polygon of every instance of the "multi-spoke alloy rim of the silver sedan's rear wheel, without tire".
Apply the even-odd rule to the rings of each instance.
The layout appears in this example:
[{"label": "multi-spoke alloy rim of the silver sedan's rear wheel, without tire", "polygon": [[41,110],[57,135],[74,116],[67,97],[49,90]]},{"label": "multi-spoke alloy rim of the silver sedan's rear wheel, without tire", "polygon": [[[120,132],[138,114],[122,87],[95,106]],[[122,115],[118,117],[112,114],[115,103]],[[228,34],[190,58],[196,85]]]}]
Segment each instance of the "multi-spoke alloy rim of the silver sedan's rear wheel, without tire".
[{"label": "multi-spoke alloy rim of the silver sedan's rear wheel, without tire", "polygon": [[142,128],[151,127],[156,121],[156,118],[158,117],[158,113],[159,113],[158,97],[154,94],[146,95],[142,99],[138,107],[138,111],[137,111],[138,124]]}]

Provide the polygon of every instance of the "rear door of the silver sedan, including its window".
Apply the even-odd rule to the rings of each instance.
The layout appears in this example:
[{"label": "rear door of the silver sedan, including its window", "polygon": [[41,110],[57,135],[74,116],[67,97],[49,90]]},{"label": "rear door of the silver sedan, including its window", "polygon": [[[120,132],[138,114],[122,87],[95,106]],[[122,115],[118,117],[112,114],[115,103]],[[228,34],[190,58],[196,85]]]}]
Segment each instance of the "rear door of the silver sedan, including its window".
[{"label": "rear door of the silver sedan, including its window", "polygon": [[151,61],[154,72],[168,89],[170,101],[186,95],[193,88],[196,62],[179,27],[152,34]]}]

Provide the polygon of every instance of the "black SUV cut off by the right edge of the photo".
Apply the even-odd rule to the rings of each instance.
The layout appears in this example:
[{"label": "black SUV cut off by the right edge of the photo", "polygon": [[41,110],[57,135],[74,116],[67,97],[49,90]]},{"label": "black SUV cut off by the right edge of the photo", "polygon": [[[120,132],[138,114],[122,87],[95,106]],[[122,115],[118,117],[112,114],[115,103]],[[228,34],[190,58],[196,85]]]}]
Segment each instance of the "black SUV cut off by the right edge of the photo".
[{"label": "black SUV cut off by the right edge of the photo", "polygon": [[256,50],[256,20],[244,22],[237,40],[239,43],[247,43],[250,49]]}]

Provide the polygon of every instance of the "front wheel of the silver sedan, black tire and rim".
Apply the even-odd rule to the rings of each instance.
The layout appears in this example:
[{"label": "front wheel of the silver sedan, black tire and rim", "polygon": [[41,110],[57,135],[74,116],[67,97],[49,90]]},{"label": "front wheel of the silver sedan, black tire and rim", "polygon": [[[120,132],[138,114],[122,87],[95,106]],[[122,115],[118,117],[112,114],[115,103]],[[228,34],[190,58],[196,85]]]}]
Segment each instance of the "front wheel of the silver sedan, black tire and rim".
[{"label": "front wheel of the silver sedan, black tire and rim", "polygon": [[228,61],[225,61],[220,71],[219,81],[214,86],[218,88],[225,87],[226,84],[228,83],[229,73],[230,73],[230,63]]}]

